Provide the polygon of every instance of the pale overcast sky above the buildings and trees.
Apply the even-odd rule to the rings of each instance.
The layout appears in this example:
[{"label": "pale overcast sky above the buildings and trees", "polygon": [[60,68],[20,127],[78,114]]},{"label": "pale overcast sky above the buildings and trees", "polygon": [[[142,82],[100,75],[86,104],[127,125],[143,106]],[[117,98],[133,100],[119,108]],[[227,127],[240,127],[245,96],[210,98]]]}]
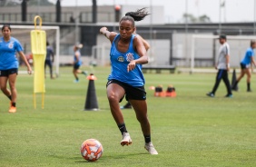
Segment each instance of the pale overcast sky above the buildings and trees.
[{"label": "pale overcast sky above the buildings and trees", "polygon": [[[49,0],[55,4],[56,0]],[[61,5],[92,5],[93,0],[62,0]],[[224,7],[220,7],[221,4]],[[253,22],[256,0],[97,0],[97,5],[162,5],[165,23],[179,23],[184,13],[207,15],[213,23]],[[187,7],[186,7],[187,6]],[[220,11],[221,8],[221,11]],[[150,12],[150,11],[149,11]]]}]

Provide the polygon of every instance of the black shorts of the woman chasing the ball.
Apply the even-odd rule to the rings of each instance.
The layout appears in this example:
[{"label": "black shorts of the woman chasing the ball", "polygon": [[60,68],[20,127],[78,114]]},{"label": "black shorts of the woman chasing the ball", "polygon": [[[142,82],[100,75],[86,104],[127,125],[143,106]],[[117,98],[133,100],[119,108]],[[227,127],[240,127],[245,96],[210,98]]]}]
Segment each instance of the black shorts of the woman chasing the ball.
[{"label": "black shorts of the woman chasing the ball", "polygon": [[[131,99],[131,100],[146,100],[146,92],[145,92],[144,86],[134,87],[134,86],[131,86],[126,83],[122,83],[117,80],[109,80],[106,83],[106,87],[111,83],[116,83],[116,84],[119,84],[121,87],[123,87],[123,89],[125,91],[126,101],[129,101],[129,99]],[[119,102],[121,103],[122,101],[123,101],[123,97],[122,97],[122,99],[120,99]]]}]

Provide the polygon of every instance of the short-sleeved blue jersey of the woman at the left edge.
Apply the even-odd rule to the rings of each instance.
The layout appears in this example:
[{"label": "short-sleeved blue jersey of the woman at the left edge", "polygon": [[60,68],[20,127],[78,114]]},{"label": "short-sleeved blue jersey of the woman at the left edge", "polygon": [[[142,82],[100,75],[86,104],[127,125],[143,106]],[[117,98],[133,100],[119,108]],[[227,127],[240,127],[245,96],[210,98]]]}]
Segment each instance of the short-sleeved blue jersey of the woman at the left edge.
[{"label": "short-sleeved blue jersey of the woman at the left edge", "polygon": [[8,42],[5,42],[4,37],[0,38],[0,70],[9,70],[18,68],[18,60],[16,52],[23,51],[22,45],[17,39],[11,37]]}]

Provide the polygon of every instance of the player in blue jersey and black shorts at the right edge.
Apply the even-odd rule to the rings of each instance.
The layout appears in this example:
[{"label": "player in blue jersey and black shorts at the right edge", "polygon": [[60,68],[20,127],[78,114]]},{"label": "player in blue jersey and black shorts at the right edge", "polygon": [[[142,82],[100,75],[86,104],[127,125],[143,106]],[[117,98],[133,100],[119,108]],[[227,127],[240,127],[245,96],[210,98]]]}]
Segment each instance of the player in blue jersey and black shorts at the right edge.
[{"label": "player in blue jersey and black shorts at the right edge", "polygon": [[254,64],[256,65],[255,60],[253,59],[254,52],[253,49],[256,47],[256,41],[251,40],[251,46],[246,50],[245,55],[243,59],[241,60],[241,74],[237,78],[236,82],[232,85],[232,90],[236,91],[236,86],[240,82],[241,78],[243,77],[244,74],[247,75],[247,92],[251,92],[251,71],[250,71],[250,66]]}]

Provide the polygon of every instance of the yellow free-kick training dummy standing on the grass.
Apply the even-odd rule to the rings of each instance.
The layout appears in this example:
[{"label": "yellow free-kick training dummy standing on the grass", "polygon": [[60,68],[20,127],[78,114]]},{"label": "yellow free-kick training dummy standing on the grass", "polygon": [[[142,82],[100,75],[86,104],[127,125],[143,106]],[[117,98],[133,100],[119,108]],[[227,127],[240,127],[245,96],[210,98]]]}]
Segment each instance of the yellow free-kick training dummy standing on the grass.
[{"label": "yellow free-kick training dummy standing on the grass", "polygon": [[[40,30],[36,29],[39,19]],[[34,108],[36,108],[35,93],[42,93],[42,108],[44,108],[44,62],[46,57],[46,33],[41,30],[42,19],[39,15],[34,16],[34,30],[31,35],[31,51],[34,63]]]}]

